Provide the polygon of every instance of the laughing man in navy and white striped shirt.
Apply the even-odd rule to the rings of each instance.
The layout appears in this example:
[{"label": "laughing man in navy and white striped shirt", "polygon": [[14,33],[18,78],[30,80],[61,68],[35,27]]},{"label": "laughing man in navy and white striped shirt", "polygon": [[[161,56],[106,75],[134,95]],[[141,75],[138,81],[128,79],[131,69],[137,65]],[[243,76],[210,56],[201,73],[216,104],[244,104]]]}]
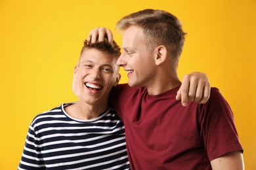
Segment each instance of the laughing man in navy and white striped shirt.
[{"label": "laughing man in navy and white striped shirt", "polygon": [[79,101],[33,119],[18,169],[129,169],[123,122],[108,105],[120,54],[115,43],[84,43],[74,70]]}]

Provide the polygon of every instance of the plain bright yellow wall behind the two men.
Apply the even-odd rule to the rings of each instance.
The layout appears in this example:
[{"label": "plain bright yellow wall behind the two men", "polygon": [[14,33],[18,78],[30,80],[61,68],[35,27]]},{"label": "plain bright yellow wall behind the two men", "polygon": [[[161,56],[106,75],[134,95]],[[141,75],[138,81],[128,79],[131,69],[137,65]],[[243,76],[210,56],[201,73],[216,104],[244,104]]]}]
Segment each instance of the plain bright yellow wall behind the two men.
[{"label": "plain bright yellow wall behind the two men", "polygon": [[[234,112],[245,167],[256,169],[255,0],[1,0],[0,169],[18,166],[37,113],[76,101],[73,69],[89,31],[113,30],[119,18],[146,8],[167,10],[182,21],[188,35],[179,76],[202,71],[219,87]],[[125,74],[122,78],[127,82]]]}]

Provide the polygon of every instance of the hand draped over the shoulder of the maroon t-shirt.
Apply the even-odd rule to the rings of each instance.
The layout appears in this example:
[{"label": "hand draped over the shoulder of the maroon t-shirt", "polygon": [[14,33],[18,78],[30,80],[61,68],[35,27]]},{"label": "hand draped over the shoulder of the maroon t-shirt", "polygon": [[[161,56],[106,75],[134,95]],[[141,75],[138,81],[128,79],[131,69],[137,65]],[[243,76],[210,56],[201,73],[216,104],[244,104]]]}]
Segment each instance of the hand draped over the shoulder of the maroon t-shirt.
[{"label": "hand draped over the shoulder of the maroon t-shirt", "polygon": [[210,91],[211,85],[207,75],[194,72],[183,77],[176,99],[181,100],[184,107],[188,105],[188,102],[192,101],[206,103],[209,99]]}]

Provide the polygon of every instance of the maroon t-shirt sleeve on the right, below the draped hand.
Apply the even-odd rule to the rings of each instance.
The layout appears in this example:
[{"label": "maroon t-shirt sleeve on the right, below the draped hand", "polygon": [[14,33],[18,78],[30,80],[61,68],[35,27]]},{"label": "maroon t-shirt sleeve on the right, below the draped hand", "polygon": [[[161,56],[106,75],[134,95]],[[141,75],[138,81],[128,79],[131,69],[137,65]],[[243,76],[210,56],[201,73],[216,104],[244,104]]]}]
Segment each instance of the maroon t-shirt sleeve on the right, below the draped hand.
[{"label": "maroon t-shirt sleeve on the right, below the draped hand", "polygon": [[201,116],[201,136],[210,161],[228,152],[243,152],[232,110],[217,88],[211,90]]}]

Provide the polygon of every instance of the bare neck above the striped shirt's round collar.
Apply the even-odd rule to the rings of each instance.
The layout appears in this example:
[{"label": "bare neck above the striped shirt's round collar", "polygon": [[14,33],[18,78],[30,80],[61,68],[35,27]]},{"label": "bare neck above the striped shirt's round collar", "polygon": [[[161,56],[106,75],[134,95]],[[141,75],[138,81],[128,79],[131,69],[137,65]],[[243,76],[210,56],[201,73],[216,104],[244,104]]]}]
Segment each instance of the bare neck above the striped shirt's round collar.
[{"label": "bare neck above the striped shirt's round collar", "polygon": [[65,111],[73,118],[79,120],[91,120],[98,118],[98,116],[106,112],[108,108],[109,106],[107,103],[106,105],[89,105],[79,101],[78,103],[66,107]]}]

